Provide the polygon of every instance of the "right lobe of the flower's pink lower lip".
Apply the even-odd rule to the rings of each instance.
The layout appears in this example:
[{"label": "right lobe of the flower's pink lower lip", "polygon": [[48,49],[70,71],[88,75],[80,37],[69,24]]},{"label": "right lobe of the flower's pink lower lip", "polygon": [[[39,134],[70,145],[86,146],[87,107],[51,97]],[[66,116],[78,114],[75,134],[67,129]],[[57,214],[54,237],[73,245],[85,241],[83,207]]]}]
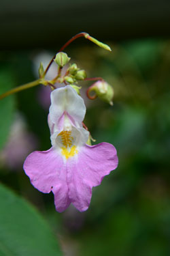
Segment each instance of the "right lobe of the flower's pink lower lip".
[{"label": "right lobe of the flower's pink lower lip", "polygon": [[92,187],[101,184],[103,177],[118,166],[118,156],[112,144],[82,147],[78,160],[67,161],[67,182],[71,203],[84,212],[88,209],[92,196]]}]

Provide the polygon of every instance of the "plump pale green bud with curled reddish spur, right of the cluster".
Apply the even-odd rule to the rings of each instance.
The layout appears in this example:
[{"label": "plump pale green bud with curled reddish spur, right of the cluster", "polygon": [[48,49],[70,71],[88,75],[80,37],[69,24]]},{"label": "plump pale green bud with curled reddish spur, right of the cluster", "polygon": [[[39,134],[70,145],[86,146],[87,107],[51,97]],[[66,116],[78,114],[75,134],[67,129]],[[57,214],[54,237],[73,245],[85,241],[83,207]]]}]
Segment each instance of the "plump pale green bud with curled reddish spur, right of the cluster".
[{"label": "plump pale green bud with curled reddish spur, right of the cluster", "polygon": [[[91,91],[95,91],[96,96],[90,96]],[[114,98],[114,89],[111,85],[109,85],[105,81],[97,81],[96,83],[94,83],[92,86],[88,88],[87,96],[88,98],[91,98],[91,99],[94,99],[98,96],[101,100],[113,106],[112,99]]]}]

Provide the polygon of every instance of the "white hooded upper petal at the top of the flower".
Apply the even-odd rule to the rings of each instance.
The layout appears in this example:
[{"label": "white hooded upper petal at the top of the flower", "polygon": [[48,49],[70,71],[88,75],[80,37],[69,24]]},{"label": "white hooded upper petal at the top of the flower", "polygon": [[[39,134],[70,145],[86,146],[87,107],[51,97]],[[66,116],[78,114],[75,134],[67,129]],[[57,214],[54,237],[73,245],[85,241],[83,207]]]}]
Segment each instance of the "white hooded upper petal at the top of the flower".
[{"label": "white hooded upper petal at the top of the flower", "polygon": [[63,113],[67,113],[74,122],[81,124],[86,113],[82,97],[71,86],[54,89],[51,93],[50,120],[58,124]]}]

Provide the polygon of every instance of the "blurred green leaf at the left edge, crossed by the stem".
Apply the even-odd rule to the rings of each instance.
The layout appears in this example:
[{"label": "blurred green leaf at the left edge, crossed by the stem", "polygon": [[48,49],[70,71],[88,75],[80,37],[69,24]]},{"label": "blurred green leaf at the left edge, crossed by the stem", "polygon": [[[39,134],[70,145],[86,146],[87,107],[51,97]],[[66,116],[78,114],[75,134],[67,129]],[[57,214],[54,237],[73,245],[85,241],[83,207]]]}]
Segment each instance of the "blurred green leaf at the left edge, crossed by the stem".
[{"label": "blurred green leaf at the left edge, crossed by the stem", "polygon": [[[3,68],[0,70],[0,94],[14,87],[14,79],[9,70]],[[14,118],[14,96],[9,96],[0,100],[0,149],[7,141],[10,132],[10,126]]]}]

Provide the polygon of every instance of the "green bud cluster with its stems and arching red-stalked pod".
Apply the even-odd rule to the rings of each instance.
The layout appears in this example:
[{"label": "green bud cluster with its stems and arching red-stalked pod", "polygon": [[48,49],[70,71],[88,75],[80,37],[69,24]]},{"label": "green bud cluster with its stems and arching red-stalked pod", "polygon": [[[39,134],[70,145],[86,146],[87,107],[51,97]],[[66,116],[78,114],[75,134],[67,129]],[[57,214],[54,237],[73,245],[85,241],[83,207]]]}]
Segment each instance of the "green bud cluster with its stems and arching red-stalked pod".
[{"label": "green bud cluster with its stems and arching red-stalked pod", "polygon": [[[86,32],[80,32],[77,35],[74,35],[73,38],[71,38],[69,41],[67,41],[63,47],[59,50],[59,52],[52,57],[50,63],[48,63],[48,66],[46,69],[44,69],[44,66],[42,63],[39,65],[39,79],[36,81],[33,81],[31,83],[27,83],[25,85],[21,85],[19,87],[16,87],[14,89],[11,89],[10,91],[5,92],[4,94],[0,95],[0,100],[2,98],[5,98],[6,96],[10,94],[14,94],[17,91],[22,91],[23,89],[28,89],[30,87],[36,86],[36,85],[45,85],[49,86],[52,90],[56,89],[57,83],[65,83],[65,85],[70,85],[75,89],[75,91],[80,94],[81,87],[78,87],[78,81],[97,81],[93,85],[91,85],[87,90],[87,96],[91,100],[99,97],[101,100],[104,100],[105,102],[108,102],[109,104],[113,104],[112,98],[114,96],[114,89],[111,85],[103,81],[101,77],[93,77],[93,78],[86,78],[86,71],[80,70],[78,66],[75,63],[69,64],[69,67],[66,66],[69,61],[70,57],[68,57],[67,53],[63,53],[63,50],[76,38],[84,37],[91,42],[97,44],[99,47],[104,48],[107,51],[112,51],[111,48],[107,44],[103,44],[99,40],[92,38],[88,33]],[[52,80],[46,79],[46,74],[52,65],[53,61],[58,65],[58,72],[56,73],[56,76]],[[67,68],[66,68],[67,67]],[[65,74],[64,74],[65,72]],[[90,92],[95,91],[95,96],[91,96]]]}]

